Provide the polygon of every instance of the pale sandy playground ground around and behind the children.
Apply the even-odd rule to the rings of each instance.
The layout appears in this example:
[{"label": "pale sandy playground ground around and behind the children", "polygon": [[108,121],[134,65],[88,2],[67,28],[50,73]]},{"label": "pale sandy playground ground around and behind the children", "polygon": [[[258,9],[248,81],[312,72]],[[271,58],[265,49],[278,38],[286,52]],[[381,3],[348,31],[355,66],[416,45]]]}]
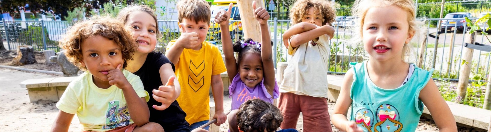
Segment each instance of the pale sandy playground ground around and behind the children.
[{"label": "pale sandy playground ground around and behind the children", "polygon": [[[0,51],[0,65],[13,66],[10,61],[15,57],[15,52]],[[41,70],[60,71],[57,64],[46,64],[42,52],[36,53],[38,63],[17,66]],[[62,75],[45,74],[37,72],[26,72],[14,69],[0,68],[0,130],[2,132],[47,132],[57,115],[55,102],[38,101],[29,102],[27,89],[21,88],[19,83],[26,79],[61,77]],[[210,99],[213,102],[213,98]],[[334,102],[329,102],[329,111],[333,110]],[[225,111],[231,107],[231,100],[224,96]],[[70,132],[78,131],[79,120],[74,118],[70,125]],[[332,126],[333,132],[340,132]],[[220,132],[227,132],[228,124],[220,126]],[[300,115],[297,130],[303,132],[302,116]],[[481,129],[458,127],[459,132],[486,132]],[[421,117],[416,132],[436,132],[438,131],[434,121]]]}]

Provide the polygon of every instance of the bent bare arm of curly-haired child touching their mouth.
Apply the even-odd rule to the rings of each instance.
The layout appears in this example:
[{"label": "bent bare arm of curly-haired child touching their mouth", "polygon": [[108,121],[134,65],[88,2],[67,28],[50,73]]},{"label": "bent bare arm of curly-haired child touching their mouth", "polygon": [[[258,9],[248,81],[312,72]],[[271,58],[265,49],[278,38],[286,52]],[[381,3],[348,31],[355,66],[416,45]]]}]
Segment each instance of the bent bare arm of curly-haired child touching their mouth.
[{"label": "bent bare arm of curly-haired child touching their mouth", "polygon": [[128,105],[131,119],[140,127],[147,124],[150,118],[150,111],[148,110],[145,97],[140,98],[136,94],[133,86],[128,82],[123,72],[121,72],[121,65],[109,70],[108,73],[109,85],[115,85],[123,90],[123,96]]}]

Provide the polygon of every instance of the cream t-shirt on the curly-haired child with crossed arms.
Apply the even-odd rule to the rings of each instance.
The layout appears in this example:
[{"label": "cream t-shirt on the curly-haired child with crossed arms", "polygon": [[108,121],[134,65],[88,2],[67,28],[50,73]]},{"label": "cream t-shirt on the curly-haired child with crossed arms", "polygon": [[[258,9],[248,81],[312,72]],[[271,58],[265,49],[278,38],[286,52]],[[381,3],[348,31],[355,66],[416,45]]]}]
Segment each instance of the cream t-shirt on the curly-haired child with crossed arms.
[{"label": "cream t-shirt on the curly-haired child with crossed arms", "polygon": [[293,56],[285,68],[280,92],[327,98],[328,42],[329,36],[322,35],[295,48],[288,46],[288,54]]}]

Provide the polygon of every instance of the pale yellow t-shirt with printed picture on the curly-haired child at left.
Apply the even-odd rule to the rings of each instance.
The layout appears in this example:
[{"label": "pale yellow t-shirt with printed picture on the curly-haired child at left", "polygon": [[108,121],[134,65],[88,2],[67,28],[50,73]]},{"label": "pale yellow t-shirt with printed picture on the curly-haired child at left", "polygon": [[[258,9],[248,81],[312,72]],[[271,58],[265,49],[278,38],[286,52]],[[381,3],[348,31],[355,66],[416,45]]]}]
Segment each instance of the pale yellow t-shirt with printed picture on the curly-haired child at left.
[{"label": "pale yellow t-shirt with printed picture on the curly-haired child at left", "polygon": [[[122,72],[138,97],[145,97],[148,102],[150,98],[143,89],[140,77],[125,69]],[[68,85],[56,107],[63,112],[77,113],[82,131],[104,132],[134,123],[123,90],[116,86],[107,89],[95,86],[88,71]]]}]

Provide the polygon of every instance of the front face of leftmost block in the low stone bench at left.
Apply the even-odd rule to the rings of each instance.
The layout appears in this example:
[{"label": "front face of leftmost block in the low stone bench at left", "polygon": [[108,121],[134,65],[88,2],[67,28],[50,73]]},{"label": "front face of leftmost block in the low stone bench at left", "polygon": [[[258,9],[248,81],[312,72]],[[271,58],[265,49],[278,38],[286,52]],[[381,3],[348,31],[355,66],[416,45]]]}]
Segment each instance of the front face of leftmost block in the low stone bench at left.
[{"label": "front face of leftmost block in the low stone bench at left", "polygon": [[30,102],[42,100],[58,101],[58,91],[55,87],[27,88]]}]

